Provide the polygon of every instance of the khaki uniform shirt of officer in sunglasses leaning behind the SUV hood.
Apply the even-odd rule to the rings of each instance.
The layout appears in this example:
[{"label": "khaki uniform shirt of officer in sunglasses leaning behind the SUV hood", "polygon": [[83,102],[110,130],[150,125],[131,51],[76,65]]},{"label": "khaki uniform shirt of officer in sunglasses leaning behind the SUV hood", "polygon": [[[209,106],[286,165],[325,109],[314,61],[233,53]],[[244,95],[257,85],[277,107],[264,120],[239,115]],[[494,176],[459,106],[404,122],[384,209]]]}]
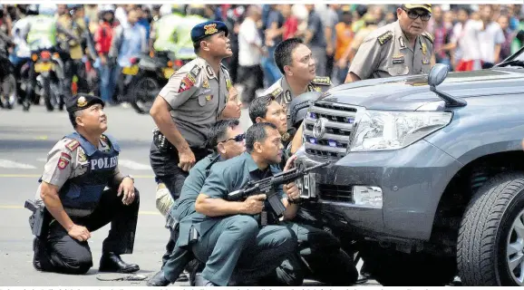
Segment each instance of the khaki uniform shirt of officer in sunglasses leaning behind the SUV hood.
[{"label": "khaki uniform shirt of officer in sunglasses leaning behind the SUV hood", "polygon": [[432,68],[432,53],[430,34],[418,36],[412,49],[396,21],[367,35],[355,54],[348,73],[358,75],[361,80],[429,73]]}]

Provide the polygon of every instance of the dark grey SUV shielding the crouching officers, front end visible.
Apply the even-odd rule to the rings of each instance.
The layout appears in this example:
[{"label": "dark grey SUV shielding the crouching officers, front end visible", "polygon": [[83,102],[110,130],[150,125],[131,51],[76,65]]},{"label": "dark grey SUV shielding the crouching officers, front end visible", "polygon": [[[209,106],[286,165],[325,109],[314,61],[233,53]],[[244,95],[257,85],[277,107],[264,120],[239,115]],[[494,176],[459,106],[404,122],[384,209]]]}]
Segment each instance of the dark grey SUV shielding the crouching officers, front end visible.
[{"label": "dark grey SUV shielding the crouching officers, front end visible", "polygon": [[524,285],[523,51],[340,85],[309,108],[297,163],[333,164],[303,197],[383,285]]}]

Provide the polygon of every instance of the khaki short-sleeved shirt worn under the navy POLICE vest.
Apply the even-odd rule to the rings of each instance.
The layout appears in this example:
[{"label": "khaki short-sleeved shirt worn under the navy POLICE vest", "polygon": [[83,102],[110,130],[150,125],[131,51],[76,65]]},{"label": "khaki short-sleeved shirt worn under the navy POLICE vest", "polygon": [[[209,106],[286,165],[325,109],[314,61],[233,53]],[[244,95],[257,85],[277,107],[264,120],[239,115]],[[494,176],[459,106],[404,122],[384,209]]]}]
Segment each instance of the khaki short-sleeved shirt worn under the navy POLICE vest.
[{"label": "khaki short-sleeved shirt worn under the navy POLICE vest", "polygon": [[[110,149],[110,142],[105,138],[101,138],[98,150],[107,151]],[[66,159],[64,160],[63,157],[66,157]],[[78,141],[64,138],[54,144],[53,149],[47,154],[42,181],[52,184],[60,190],[67,179],[73,179],[85,174],[89,166],[87,155],[82,147],[78,145]],[[120,169],[117,166],[113,175],[119,172]],[[35,200],[42,199],[40,198],[41,187],[42,185],[36,190]]]}]

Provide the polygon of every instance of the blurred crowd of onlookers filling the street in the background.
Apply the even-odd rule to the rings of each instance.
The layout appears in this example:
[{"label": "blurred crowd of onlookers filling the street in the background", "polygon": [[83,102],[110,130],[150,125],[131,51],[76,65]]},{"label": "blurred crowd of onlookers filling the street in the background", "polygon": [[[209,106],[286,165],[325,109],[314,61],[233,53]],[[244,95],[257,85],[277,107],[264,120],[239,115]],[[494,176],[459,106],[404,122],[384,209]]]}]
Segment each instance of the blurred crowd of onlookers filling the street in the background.
[{"label": "blurred crowd of onlookers filling the street in the background", "polygon": [[[53,16],[56,30],[44,33],[57,34],[58,39],[70,40],[69,36],[80,39],[68,46],[71,60],[66,62],[64,88],[70,90],[73,73],[76,73],[80,76],[79,92],[91,92],[88,86],[96,82],[102,99],[116,103],[121,100],[117,93],[123,92],[116,90],[121,70],[131,64],[133,57],[161,50],[175,51],[182,59],[192,59],[195,53],[189,39],[190,27],[206,19],[223,21],[231,32],[233,50],[233,56],[224,63],[231,81],[244,89],[243,101],[248,103],[258,90],[282,76],[274,51],[278,43],[289,38],[301,38],[310,47],[317,75],[331,77],[335,85],[343,83],[360,43],[375,29],[393,23],[397,18],[396,7],[4,5],[0,7],[0,31],[7,39],[0,38],[3,40],[0,46],[16,67],[30,55],[24,50],[24,43],[32,35],[26,31],[26,23],[30,22],[27,18],[31,18],[27,16]],[[486,14],[490,22],[482,33],[471,33],[482,22],[482,14]],[[158,29],[160,26],[162,29]],[[42,27],[36,28],[42,30]],[[522,46],[523,30],[522,5],[433,5],[427,26],[427,32],[434,37],[436,63],[448,64],[453,71],[481,69],[499,63]],[[9,40],[14,45],[10,45]]]}]

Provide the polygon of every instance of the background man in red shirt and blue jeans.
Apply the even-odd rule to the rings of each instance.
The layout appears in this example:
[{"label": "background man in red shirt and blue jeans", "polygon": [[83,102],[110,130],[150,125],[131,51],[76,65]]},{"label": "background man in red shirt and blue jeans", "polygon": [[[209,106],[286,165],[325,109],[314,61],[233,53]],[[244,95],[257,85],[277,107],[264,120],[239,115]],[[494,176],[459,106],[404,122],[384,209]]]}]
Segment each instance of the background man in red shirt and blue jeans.
[{"label": "background man in red shirt and blue jeans", "polygon": [[114,70],[114,63],[108,61],[108,53],[112,43],[112,33],[114,27],[114,6],[102,5],[102,24],[94,33],[94,43],[96,53],[99,59],[97,60],[98,71],[100,75],[100,94],[103,102],[112,103],[112,94],[115,88],[115,80],[112,71]]}]

